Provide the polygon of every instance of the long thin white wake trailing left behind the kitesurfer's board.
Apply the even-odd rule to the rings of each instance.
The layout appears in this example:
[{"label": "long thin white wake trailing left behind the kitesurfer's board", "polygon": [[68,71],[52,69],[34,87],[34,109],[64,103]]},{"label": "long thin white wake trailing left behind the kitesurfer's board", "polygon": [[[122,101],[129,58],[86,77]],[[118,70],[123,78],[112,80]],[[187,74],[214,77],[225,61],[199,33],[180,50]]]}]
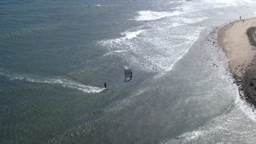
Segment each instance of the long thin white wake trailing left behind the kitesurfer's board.
[{"label": "long thin white wake trailing left behind the kitesurfer's board", "polygon": [[85,93],[100,93],[104,90],[104,88],[86,86],[78,82],[74,82],[67,79],[61,79],[61,78],[48,78],[48,77],[36,78],[32,75],[16,75],[16,76],[8,75],[8,74],[1,74],[1,75],[7,76],[10,80],[25,80],[25,81],[38,82],[38,83],[61,84],[64,87],[75,88]]}]

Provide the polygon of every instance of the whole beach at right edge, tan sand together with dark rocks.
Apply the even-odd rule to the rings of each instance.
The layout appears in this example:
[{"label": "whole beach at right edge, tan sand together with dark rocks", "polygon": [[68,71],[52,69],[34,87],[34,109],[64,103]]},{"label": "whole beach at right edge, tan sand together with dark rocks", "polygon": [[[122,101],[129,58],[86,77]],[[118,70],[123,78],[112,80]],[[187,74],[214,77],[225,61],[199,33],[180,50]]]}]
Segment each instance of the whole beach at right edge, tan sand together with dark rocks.
[{"label": "whole beach at right edge, tan sand together with dark rocks", "polygon": [[236,20],[219,28],[218,44],[239,86],[240,96],[256,108],[256,18]]}]

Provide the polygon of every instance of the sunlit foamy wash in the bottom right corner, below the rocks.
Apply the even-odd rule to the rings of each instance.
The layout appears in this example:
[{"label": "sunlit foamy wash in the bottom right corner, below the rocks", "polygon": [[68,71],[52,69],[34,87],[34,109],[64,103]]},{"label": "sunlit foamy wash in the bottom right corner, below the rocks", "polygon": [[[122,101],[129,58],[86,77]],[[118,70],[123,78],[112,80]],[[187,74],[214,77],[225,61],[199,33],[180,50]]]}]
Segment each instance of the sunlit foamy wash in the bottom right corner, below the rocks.
[{"label": "sunlit foamy wash in the bottom right corner, below the rocks", "polygon": [[[236,95],[238,95],[238,92]],[[204,143],[208,139],[211,139],[211,136],[214,137],[214,134],[216,133],[223,135],[237,134],[237,129],[240,129],[240,133],[247,133],[247,131],[250,133],[250,131],[253,130],[253,127],[251,125],[246,125],[245,123],[240,123],[241,119],[242,121],[246,121],[243,119],[246,117],[241,115],[237,110],[242,110],[247,116],[249,116],[250,119],[256,122],[255,110],[253,111],[252,107],[248,106],[248,104],[242,100],[239,95],[237,98],[238,99],[235,101],[235,103],[231,104],[227,111],[217,117],[214,117],[213,119],[210,119],[198,129],[185,132],[177,137],[173,137],[172,139],[161,141],[160,143]],[[233,107],[237,104],[238,109]],[[251,123],[251,121],[247,122]],[[226,131],[229,131],[229,134],[227,134]]]}]

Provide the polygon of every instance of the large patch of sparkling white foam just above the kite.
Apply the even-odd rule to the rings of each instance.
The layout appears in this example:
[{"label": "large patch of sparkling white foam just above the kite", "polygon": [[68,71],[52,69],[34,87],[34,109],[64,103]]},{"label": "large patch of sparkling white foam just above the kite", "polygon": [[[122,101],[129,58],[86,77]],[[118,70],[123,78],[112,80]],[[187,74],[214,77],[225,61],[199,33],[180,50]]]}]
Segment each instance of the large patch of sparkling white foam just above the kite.
[{"label": "large patch of sparkling white foam just above the kite", "polygon": [[[179,25],[185,24],[176,23],[171,27]],[[166,24],[166,26],[168,26],[168,24]],[[169,27],[157,27],[147,29],[147,31],[144,30],[145,32],[141,37],[132,40],[128,39],[133,38],[132,33],[123,33],[124,35],[126,34],[126,38],[103,40],[98,44],[109,50],[104,56],[113,54],[113,51],[117,51],[134,67],[156,73],[161,71],[162,73],[162,71],[170,71],[174,63],[181,59],[184,53],[188,52],[188,48],[198,38],[200,31],[203,29],[203,27],[199,27],[196,28],[197,30],[191,29],[186,33],[182,32],[182,35],[174,35],[168,28]],[[137,35],[138,33],[139,32],[134,34]],[[150,37],[148,37],[149,35]],[[177,41],[183,39],[185,42],[178,43],[176,40],[173,41],[173,39],[177,39]],[[135,55],[131,55],[131,53]],[[126,57],[127,55],[129,55],[129,57]]]}]

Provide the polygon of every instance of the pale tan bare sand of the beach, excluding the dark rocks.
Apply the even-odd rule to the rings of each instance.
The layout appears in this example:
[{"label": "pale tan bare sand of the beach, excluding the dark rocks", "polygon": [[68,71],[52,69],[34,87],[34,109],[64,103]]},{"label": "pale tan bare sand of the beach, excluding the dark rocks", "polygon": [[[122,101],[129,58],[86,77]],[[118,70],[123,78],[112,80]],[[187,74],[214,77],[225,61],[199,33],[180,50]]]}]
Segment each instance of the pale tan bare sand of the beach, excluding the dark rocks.
[{"label": "pale tan bare sand of the beach, excluding the dark rocks", "polygon": [[256,27],[256,18],[234,21],[218,31],[218,43],[228,58],[232,73],[237,76],[243,76],[256,53],[246,34],[249,27]]}]

